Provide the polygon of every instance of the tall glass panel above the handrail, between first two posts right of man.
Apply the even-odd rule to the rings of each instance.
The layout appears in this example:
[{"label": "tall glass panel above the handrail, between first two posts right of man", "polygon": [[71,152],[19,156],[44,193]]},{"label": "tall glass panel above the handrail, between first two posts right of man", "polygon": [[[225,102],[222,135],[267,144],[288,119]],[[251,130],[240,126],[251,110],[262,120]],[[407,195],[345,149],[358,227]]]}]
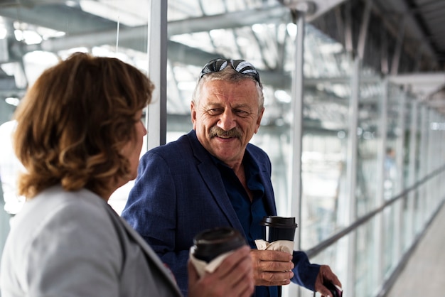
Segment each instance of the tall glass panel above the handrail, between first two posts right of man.
[{"label": "tall glass panel above the handrail, between first two posts right of man", "polygon": [[[346,151],[352,65],[343,45],[307,26],[304,42],[301,247],[345,226]],[[342,63],[340,63],[342,61]]]}]

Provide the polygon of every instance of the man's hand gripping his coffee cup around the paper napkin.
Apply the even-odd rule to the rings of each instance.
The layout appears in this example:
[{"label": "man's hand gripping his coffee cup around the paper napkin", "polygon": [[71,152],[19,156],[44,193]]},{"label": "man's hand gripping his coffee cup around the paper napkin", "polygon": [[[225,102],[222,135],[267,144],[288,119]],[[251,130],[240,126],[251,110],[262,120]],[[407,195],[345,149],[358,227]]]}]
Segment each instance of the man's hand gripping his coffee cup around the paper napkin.
[{"label": "man's hand gripping his coffee cup around the paper napkin", "polygon": [[294,277],[291,254],[252,249],[250,255],[255,286],[284,286],[291,283]]}]

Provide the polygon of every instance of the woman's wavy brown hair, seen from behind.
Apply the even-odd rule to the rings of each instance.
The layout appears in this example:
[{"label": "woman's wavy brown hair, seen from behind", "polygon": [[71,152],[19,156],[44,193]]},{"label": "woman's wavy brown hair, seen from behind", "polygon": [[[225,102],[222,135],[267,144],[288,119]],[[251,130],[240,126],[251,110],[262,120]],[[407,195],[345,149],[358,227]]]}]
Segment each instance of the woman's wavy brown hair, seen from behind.
[{"label": "woman's wavy brown hair, seen from behind", "polygon": [[45,70],[15,114],[14,148],[27,171],[21,195],[60,183],[104,197],[114,181],[134,178],[122,151],[136,141],[137,117],[153,89],[146,75],[115,58],[75,53]]}]

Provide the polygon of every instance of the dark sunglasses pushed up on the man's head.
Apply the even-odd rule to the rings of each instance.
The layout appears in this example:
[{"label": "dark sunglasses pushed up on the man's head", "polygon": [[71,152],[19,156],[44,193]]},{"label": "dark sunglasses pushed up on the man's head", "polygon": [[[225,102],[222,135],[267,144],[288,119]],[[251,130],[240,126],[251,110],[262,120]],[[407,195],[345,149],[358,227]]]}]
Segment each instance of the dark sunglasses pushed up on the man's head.
[{"label": "dark sunglasses pushed up on the man's head", "polygon": [[235,71],[238,73],[252,76],[259,83],[259,86],[261,87],[258,71],[253,67],[252,64],[250,64],[245,60],[233,60],[233,59],[211,60],[210,62],[205,64],[203,70],[201,70],[199,79],[201,79],[204,75],[208,73],[223,71],[225,68],[227,68],[228,65],[231,65],[232,68],[235,69]]}]

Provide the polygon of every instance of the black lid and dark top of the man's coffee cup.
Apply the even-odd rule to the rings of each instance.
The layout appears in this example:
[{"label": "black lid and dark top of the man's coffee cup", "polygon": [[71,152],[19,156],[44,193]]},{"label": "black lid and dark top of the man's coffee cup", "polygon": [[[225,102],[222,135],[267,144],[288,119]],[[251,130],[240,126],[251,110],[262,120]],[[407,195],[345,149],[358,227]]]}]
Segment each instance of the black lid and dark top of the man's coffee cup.
[{"label": "black lid and dark top of the man's coffee cup", "polygon": [[277,240],[294,241],[295,228],[298,226],[295,217],[263,217],[261,225],[266,226],[267,242],[276,242]]}]

